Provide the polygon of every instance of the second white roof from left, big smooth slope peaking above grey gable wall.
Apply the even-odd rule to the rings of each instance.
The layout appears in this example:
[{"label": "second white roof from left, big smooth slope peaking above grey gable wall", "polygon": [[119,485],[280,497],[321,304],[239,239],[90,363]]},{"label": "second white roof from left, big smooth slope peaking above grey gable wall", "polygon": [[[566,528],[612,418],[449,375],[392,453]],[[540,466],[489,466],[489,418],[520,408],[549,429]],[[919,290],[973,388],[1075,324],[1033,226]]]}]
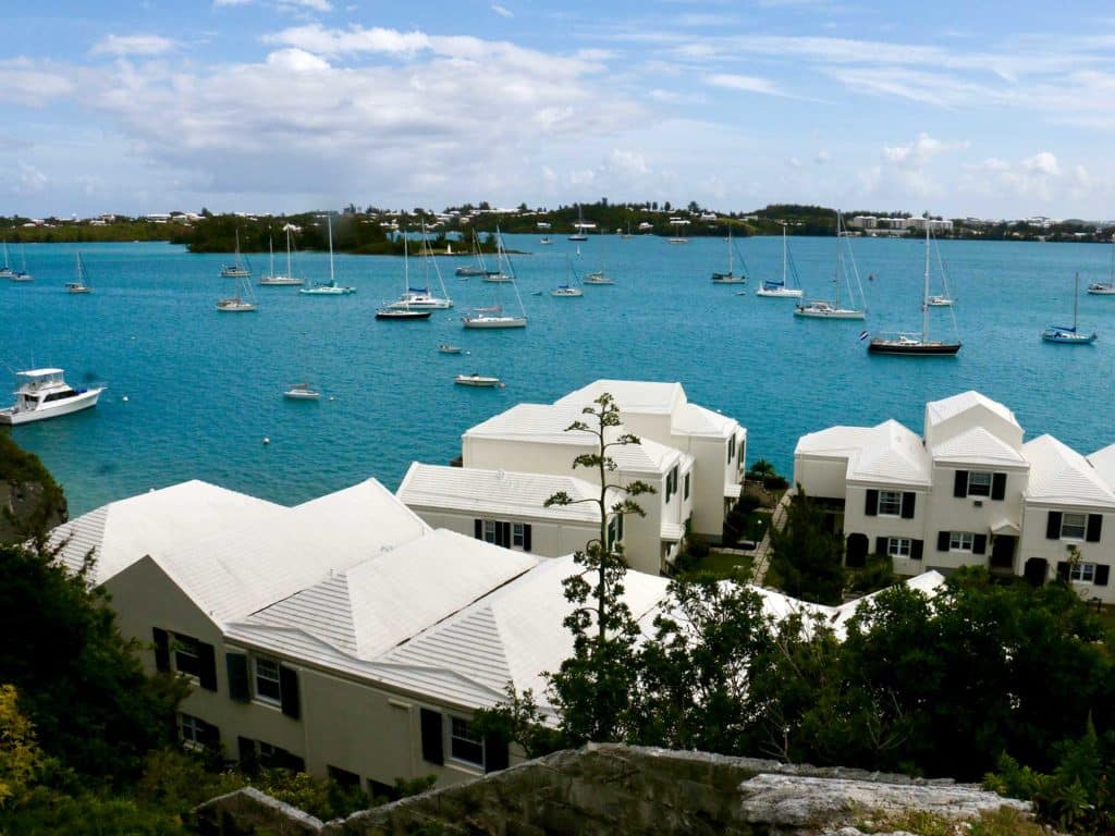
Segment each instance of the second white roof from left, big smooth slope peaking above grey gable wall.
[{"label": "second white roof from left, big smooth slope peaking above grey gable wall", "polygon": [[202,612],[222,623],[428,531],[394,494],[368,479],[155,558]]}]

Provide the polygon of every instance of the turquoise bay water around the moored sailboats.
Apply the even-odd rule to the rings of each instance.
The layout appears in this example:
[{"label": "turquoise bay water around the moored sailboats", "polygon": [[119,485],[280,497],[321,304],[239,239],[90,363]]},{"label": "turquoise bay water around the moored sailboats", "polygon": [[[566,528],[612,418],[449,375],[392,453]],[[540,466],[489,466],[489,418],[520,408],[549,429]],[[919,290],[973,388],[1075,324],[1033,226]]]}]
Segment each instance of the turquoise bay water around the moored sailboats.
[{"label": "turquoise bay water around the moored sailboats", "polygon": [[[826,297],[834,241],[791,240],[806,293]],[[1073,274],[1106,280],[1111,252],[1095,244],[942,242],[963,348],[954,359],[869,357],[859,333],[920,329],[923,245],[862,240],[855,256],[867,290],[866,322],[798,320],[789,300],[754,295],[756,279],[782,272],[779,239],[737,242],[753,276],[714,285],[727,266],[723,241],[507,236],[530,325],[465,331],[459,315],[491,304],[496,285],[458,281],[466,263],[440,259],[456,300],[425,322],[377,322],[375,309],[403,290],[403,263],[338,256],[348,297],[301,297],[254,288],[256,313],[219,313],[235,280],[226,257],[168,244],[27,247],[30,284],[0,283],[0,362],[60,366],[71,385],[107,382],[94,410],[17,427],[62,483],[71,513],[190,478],[281,503],[297,503],[375,476],[398,485],[414,459],[447,463],[460,434],[520,401],[551,401],[601,377],[679,380],[689,398],[739,419],[748,459],[788,473],[798,436],[834,424],[894,417],[920,431],[924,402],[979,389],[1015,410],[1028,437],[1051,432],[1082,453],[1115,440],[1112,370],[1115,297],[1080,295],[1090,347],[1043,343],[1050,321],[1069,321]],[[80,249],[96,289],[69,295]],[[553,299],[569,275],[603,265],[613,286]],[[265,260],[254,257],[259,273]],[[301,272],[328,276],[328,256],[302,255]],[[410,261],[411,283],[423,276]],[[738,264],[737,264],[738,269]],[[874,281],[867,282],[872,273]],[[533,295],[545,291],[543,295]],[[514,307],[510,286],[504,303]],[[949,309],[933,331],[951,336]],[[437,352],[460,346],[467,356]],[[498,375],[505,389],[454,386],[460,372]],[[3,382],[14,380],[0,372]],[[287,401],[308,380],[320,402]],[[125,400],[126,398],[126,400]],[[271,443],[264,445],[263,438]]]}]

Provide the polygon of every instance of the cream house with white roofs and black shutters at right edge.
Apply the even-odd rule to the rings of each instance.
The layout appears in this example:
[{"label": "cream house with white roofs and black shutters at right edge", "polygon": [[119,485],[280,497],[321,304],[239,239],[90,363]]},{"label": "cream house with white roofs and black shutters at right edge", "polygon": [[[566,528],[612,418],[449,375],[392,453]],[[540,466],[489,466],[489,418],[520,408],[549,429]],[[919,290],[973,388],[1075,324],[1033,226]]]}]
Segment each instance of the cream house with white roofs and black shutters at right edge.
[{"label": "cream house with white roofs and black shutters at right edge", "polygon": [[1115,454],[1095,454],[1111,465],[1105,478],[1056,439],[1022,436],[1007,407],[968,391],[925,405],[924,438],[893,420],[803,436],[794,480],[831,509],[849,566],[876,553],[906,575],[983,565],[1044,583],[1060,573],[1115,601],[1113,523],[1103,534]]}]

